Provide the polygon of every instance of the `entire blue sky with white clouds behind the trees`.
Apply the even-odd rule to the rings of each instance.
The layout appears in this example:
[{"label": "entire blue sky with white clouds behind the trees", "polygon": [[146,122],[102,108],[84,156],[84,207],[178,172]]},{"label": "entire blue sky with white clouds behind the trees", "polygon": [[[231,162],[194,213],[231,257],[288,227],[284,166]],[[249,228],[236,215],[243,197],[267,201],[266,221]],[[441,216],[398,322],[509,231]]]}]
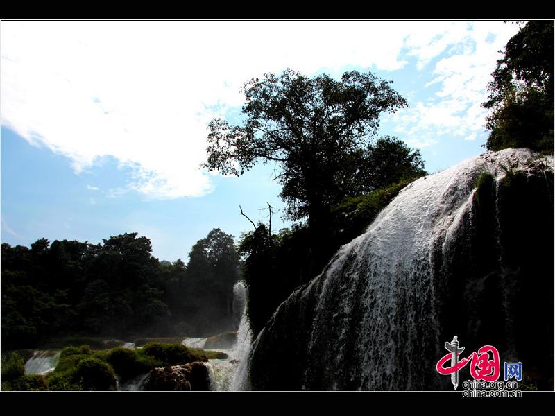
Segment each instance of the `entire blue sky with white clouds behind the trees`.
[{"label": "entire blue sky with white clouds behind the trees", "polygon": [[[381,135],[429,172],[484,151],[486,84],[516,24],[477,22],[0,23],[1,241],[96,243],[139,232],[187,259],[210,229],[239,236],[282,207],[273,166],[198,168],[206,125],[237,121],[248,79],[373,71],[409,107]],[[287,225],[273,217],[275,228]]]}]

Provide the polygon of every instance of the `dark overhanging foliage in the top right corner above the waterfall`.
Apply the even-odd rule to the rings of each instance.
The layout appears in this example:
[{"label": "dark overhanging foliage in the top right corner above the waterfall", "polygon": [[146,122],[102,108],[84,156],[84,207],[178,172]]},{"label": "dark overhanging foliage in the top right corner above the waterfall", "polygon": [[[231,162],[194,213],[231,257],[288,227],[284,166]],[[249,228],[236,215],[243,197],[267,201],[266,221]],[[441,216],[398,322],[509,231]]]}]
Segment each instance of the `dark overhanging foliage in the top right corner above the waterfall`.
[{"label": "dark overhanging foliage in the top right corner above the waterfall", "polygon": [[529,21],[497,60],[482,104],[493,110],[486,125],[488,150],[527,147],[553,153],[553,28],[552,20]]}]

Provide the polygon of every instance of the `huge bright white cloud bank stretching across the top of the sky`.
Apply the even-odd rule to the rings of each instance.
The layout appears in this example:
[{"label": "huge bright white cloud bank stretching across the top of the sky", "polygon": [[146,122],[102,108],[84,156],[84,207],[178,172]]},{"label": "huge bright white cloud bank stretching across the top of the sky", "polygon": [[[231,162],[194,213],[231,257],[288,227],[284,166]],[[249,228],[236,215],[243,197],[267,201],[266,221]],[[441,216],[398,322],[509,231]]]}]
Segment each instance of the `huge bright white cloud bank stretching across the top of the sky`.
[{"label": "huge bright white cloud bank stretching across the top of the sky", "polygon": [[411,57],[424,68],[448,51],[430,80],[438,98],[412,103],[400,122],[408,131],[422,121],[426,131],[413,140],[429,137],[438,119],[475,130],[484,114],[469,103],[483,96],[495,51],[517,30],[502,22],[3,21],[1,122],[69,157],[76,173],[106,155],[130,167],[128,188],[108,196],[202,196],[212,189],[198,167],[206,125],[242,105],[246,80],[287,67],[393,71]]}]

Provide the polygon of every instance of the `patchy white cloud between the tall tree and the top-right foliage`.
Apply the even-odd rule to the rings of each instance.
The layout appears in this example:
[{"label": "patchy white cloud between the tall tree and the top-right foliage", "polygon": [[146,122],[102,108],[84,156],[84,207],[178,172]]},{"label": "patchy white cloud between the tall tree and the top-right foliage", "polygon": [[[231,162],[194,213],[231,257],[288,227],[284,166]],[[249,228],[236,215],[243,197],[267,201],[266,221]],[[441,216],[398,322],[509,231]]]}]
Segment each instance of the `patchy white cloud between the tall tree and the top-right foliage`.
[{"label": "patchy white cloud between the tall tree and the top-right foliage", "polygon": [[486,110],[480,103],[486,100],[486,85],[500,57],[499,50],[518,31],[518,26],[502,22],[477,21],[431,22],[429,27],[411,34],[407,39],[409,51],[424,68],[433,58],[445,52],[432,70],[432,79],[425,88],[438,87],[435,96],[411,103],[391,119],[394,130],[402,132],[412,146],[427,147],[448,135],[468,141],[484,134]]}]

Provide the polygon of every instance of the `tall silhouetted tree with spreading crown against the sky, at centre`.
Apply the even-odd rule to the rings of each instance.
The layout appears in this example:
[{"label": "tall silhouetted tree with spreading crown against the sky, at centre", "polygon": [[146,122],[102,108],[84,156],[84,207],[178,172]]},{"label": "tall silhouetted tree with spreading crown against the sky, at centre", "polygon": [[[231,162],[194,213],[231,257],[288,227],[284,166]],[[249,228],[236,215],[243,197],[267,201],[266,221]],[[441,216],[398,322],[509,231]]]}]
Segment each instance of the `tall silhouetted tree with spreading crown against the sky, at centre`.
[{"label": "tall silhouetted tree with spreading crown against the sky, at centre", "polygon": [[[373,73],[352,71],[337,81],[287,69],[245,83],[242,125],[210,123],[205,168],[241,175],[255,163],[275,162],[280,196],[291,220],[322,228],[330,205],[345,197],[353,166],[364,159],[382,112],[407,101]],[[361,189],[364,183],[360,183]]]}]

